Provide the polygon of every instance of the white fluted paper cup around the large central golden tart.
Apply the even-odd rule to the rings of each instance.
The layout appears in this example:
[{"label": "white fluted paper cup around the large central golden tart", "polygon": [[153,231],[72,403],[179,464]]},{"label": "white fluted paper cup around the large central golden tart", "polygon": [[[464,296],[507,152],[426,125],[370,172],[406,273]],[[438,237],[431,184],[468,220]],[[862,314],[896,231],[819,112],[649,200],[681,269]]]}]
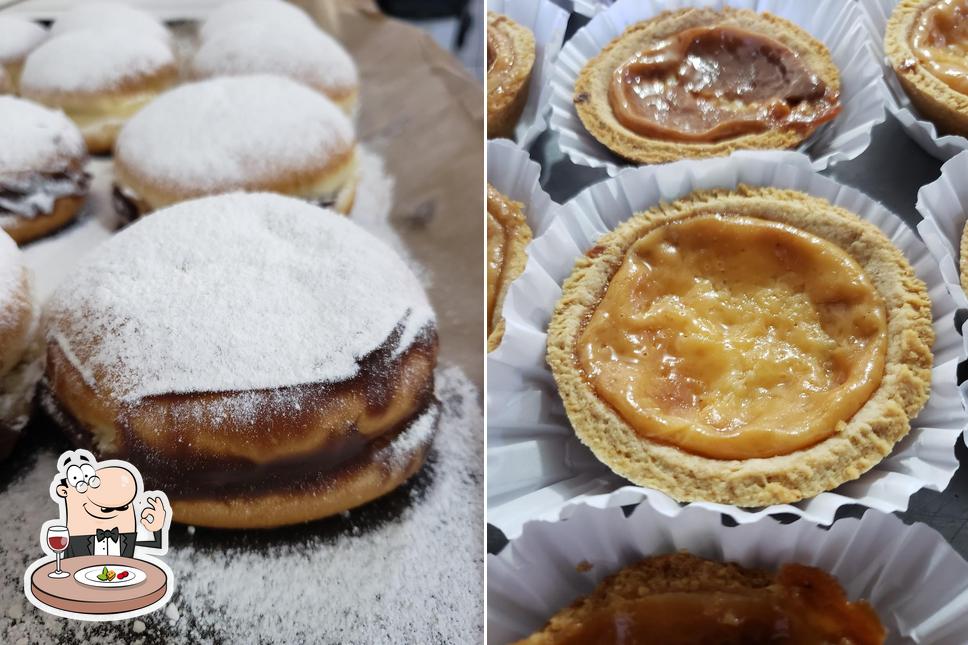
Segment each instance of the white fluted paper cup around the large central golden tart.
[{"label": "white fluted paper cup around the large central golden tart", "polygon": [[[738,184],[794,189],[826,199],[880,228],[904,253],[932,302],[936,339],[931,395],[912,420],[910,433],[888,457],[833,491],[759,509],[708,502],[682,505],[658,490],[629,484],[579,442],[545,362],[546,329],[575,260],[602,235],[660,201]],[[528,265],[508,290],[504,340],[488,356],[488,521],[514,537],[524,522],[566,517],[575,504],[609,507],[644,499],[670,515],[701,506],[739,523],[792,513],[830,524],[847,504],[903,510],[914,492],[944,489],[958,468],[954,446],[966,419],[956,367],[968,353],[955,330],[956,309],[937,261],[914,231],[870,197],[817,174],[803,154],[741,151],[626,170],[562,206],[531,244]]]}]

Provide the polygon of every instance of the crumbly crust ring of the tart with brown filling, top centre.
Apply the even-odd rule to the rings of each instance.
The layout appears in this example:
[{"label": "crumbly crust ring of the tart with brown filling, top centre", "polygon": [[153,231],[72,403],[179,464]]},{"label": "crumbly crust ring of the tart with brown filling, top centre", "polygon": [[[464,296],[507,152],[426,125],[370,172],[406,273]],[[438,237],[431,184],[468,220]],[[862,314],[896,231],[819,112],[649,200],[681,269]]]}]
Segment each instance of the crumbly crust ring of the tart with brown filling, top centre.
[{"label": "crumbly crust ring of the tart with brown filling, top centre", "polygon": [[[832,111],[814,123],[795,127],[770,127],[764,131],[740,133],[715,141],[686,141],[649,137],[623,125],[613,112],[609,91],[614,73],[634,55],[677,34],[691,29],[735,28],[772,39],[791,50],[800,62],[823,83],[827,96],[840,94],[840,72],[823,43],[797,25],[770,13],[725,7],[681,9],[631,25],[588,61],[575,82],[574,103],[588,132],[609,150],[636,163],[666,163],[684,158],[725,156],[741,149],[793,148],[806,140],[817,127],[836,114]],[[839,108],[837,108],[839,110]]]}]

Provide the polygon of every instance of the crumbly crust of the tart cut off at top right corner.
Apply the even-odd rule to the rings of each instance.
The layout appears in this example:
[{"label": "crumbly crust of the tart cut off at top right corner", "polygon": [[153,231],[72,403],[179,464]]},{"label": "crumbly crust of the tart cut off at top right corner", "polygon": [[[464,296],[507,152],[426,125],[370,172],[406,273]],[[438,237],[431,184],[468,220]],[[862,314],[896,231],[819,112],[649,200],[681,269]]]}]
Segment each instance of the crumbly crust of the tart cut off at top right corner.
[{"label": "crumbly crust of the tart cut off at top right corner", "polygon": [[945,134],[968,135],[968,95],[935,76],[915,53],[911,36],[939,0],[901,0],[884,32],[884,51],[911,103]]}]

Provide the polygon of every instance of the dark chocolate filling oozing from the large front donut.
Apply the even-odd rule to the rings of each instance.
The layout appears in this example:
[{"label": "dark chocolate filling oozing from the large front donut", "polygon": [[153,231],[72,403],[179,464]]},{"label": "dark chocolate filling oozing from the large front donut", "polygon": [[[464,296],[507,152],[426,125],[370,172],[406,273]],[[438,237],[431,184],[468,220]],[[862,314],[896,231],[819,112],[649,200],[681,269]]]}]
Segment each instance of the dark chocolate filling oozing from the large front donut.
[{"label": "dark chocolate filling oozing from the large front donut", "polygon": [[[311,385],[309,387],[316,391],[306,398],[312,400],[320,396],[334,396],[347,390],[362,389],[369,412],[386,409],[399,386],[400,371],[397,368],[402,357],[411,352],[432,354],[437,347],[436,332],[427,329],[405,352],[394,355],[402,330],[402,325],[398,326],[383,345],[360,360],[360,371],[356,377],[341,383]],[[295,389],[297,388],[282,388]],[[191,395],[167,395],[165,398],[177,399],[183,396]],[[51,419],[61,427],[74,445],[97,452],[91,431],[60,403],[46,380],[40,385],[39,398]],[[369,441],[352,428],[343,439],[330,442],[322,450],[294,454],[268,463],[187,452],[178,456],[160,455],[131,431],[124,422],[122,412],[115,420],[119,434],[118,450],[99,457],[130,461],[140,469],[145,486],[164,490],[173,499],[256,497],[269,491],[314,489],[337,474],[352,473],[371,464],[382,449],[423,415],[435,415],[433,423],[436,426],[440,402],[434,396],[432,382],[427,383],[418,393],[416,401],[416,412],[409,418]],[[173,445],[181,443],[174,434],[172,442]],[[386,475],[389,476],[392,465],[384,466]]]}]

